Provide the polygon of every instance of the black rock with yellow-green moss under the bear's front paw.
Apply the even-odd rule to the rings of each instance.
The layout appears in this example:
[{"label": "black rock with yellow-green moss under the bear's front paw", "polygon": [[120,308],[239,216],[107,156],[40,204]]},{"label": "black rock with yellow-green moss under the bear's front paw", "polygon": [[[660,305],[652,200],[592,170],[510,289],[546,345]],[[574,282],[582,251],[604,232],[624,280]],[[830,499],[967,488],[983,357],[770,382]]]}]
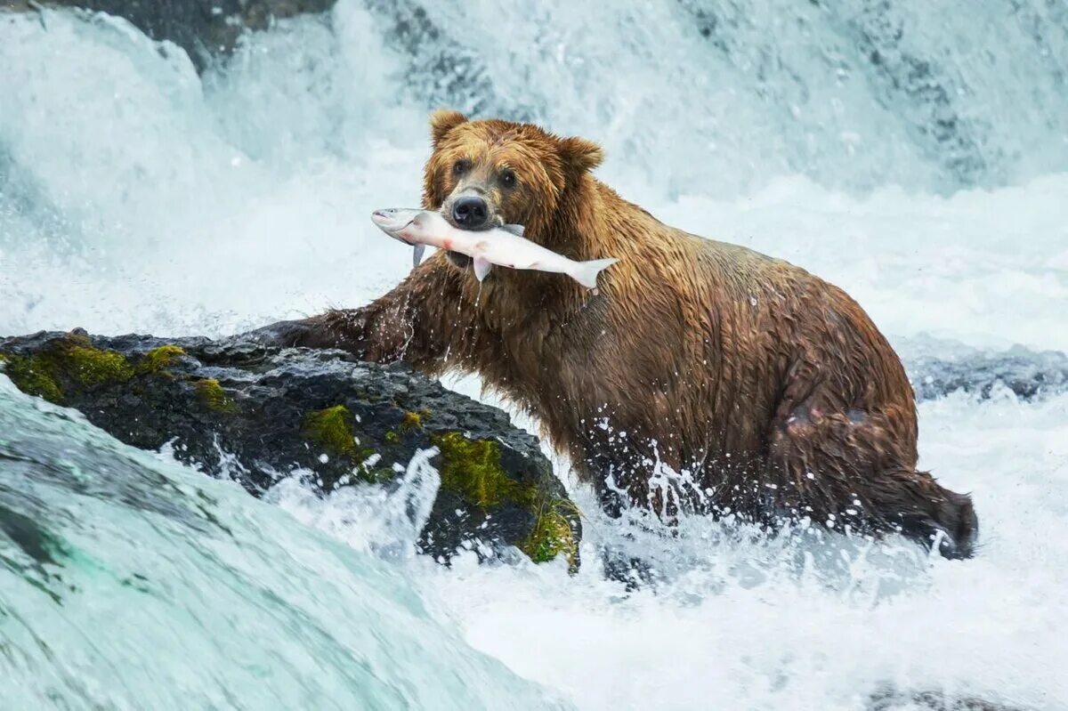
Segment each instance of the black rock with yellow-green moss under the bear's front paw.
[{"label": "black rock with yellow-green moss under the bear's front paw", "polygon": [[23,392],[81,411],[126,444],[170,443],[177,459],[254,495],[295,471],[323,492],[397,487],[409,460],[437,447],[441,487],[422,552],[447,562],[461,547],[485,557],[515,546],[535,562],[563,555],[578,566],[579,511],[537,438],[407,366],[80,330],[0,339],[0,362]]}]

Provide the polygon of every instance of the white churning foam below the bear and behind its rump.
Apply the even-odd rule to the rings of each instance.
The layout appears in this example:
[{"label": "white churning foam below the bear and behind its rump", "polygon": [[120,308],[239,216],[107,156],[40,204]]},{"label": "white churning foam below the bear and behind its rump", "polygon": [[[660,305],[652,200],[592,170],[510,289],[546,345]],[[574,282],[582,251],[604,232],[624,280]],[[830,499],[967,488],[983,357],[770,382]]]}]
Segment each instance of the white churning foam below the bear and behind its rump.
[{"label": "white churning foam below the bear and behind its rump", "polygon": [[[957,395],[924,405],[921,422],[922,464],[975,497],[984,542],[972,560],[893,540],[747,539],[707,519],[643,532],[597,515],[572,483],[586,512],[577,576],[470,554],[451,569],[413,559],[412,578],[472,645],[579,708],[861,709],[885,686],[1068,708],[1068,542],[1057,533],[1068,396]],[[299,501],[280,503],[335,535],[350,510],[339,494]],[[623,539],[660,565],[655,588],[604,580],[599,549]]]}]

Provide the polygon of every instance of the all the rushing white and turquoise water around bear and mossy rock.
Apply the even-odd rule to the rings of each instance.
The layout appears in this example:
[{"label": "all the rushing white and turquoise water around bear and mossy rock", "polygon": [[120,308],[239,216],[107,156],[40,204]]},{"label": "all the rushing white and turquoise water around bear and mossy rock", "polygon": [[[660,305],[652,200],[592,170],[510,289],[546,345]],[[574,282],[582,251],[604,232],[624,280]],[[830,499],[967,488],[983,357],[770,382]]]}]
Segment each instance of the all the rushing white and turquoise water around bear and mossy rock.
[{"label": "all the rushing white and turquoise water around bear and mossy rock", "polygon": [[[426,110],[451,105],[600,141],[625,196],[843,286],[907,356],[1068,350],[1056,0],[343,0],[201,77],[123,21],[0,14],[0,334],[213,335],[366,302],[410,264],[367,214],[418,202]],[[861,709],[894,686],[1068,708],[1068,396],[920,416],[922,465],[973,492],[973,560],[622,526],[560,461],[587,517],[572,578],[380,562],[410,527],[366,494],[256,503],[0,377],[0,698]],[[606,582],[601,546],[660,583]]]}]

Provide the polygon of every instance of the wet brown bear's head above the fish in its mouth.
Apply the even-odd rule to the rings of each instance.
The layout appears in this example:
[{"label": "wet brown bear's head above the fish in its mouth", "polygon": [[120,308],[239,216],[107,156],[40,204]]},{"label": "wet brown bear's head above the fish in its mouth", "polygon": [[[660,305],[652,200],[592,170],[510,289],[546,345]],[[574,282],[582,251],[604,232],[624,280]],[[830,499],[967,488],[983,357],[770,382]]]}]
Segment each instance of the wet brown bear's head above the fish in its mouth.
[{"label": "wet brown bear's head above the fish in its mouth", "polygon": [[468,121],[457,111],[434,112],[430,136],[424,208],[440,209],[461,230],[521,224],[528,239],[549,247],[569,191],[603,157],[585,139],[560,138],[532,124]]}]

